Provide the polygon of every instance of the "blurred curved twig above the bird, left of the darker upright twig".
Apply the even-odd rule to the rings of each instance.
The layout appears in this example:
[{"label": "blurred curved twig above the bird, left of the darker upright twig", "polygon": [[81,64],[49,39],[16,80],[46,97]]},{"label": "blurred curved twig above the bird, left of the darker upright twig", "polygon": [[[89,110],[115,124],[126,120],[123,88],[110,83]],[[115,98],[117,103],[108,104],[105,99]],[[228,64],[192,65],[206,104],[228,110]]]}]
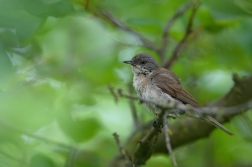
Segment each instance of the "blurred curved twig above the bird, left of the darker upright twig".
[{"label": "blurred curved twig above the bird, left of the darker upright twig", "polygon": [[[165,28],[164,28],[164,31],[163,31],[163,35],[162,35],[162,46],[160,48],[160,59],[161,59],[161,62],[165,62],[164,59],[165,59],[165,52],[166,52],[166,48],[167,48],[167,45],[168,45],[168,34],[169,34],[169,31],[171,29],[171,26],[173,24],[173,22],[178,18],[180,17],[182,14],[185,13],[185,11],[192,5],[193,3],[192,2],[187,2],[185,3],[183,6],[181,6],[175,13],[174,15],[169,18],[169,20],[167,21],[166,25],[165,25]],[[164,65],[164,64],[162,64]]]}]

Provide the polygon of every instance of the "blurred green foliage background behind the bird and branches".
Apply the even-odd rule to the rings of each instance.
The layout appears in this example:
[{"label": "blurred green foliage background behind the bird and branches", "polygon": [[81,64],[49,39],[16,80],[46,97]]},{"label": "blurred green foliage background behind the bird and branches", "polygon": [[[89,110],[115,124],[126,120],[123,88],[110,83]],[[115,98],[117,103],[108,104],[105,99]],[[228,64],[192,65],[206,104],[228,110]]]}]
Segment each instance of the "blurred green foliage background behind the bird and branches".
[{"label": "blurred green foliage background behind the bird and branches", "polygon": [[[157,54],[101,16],[99,8],[161,43],[167,20],[184,0],[0,0],[0,167],[99,167],[134,129],[128,100],[114,102],[108,85],[128,92],[135,54]],[[165,60],[185,33],[191,10],[171,27]],[[232,74],[251,75],[252,2],[203,0],[193,33],[171,70],[201,105],[224,96]],[[141,122],[154,115],[135,102]],[[244,115],[246,118],[245,119]],[[175,150],[179,166],[252,166],[252,112]],[[171,166],[167,155],[144,165]]]}]

